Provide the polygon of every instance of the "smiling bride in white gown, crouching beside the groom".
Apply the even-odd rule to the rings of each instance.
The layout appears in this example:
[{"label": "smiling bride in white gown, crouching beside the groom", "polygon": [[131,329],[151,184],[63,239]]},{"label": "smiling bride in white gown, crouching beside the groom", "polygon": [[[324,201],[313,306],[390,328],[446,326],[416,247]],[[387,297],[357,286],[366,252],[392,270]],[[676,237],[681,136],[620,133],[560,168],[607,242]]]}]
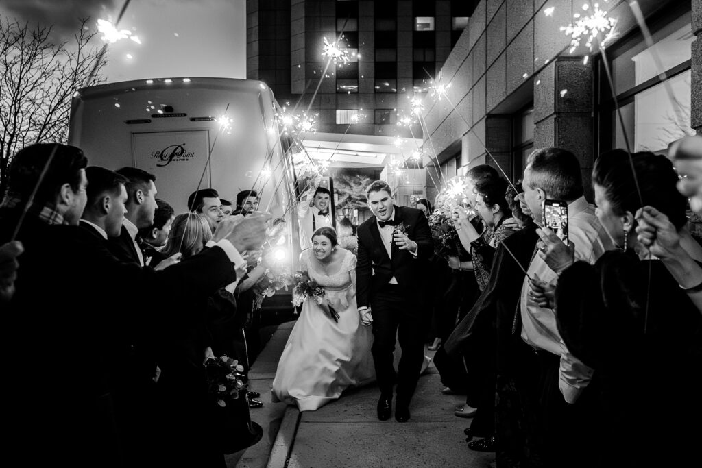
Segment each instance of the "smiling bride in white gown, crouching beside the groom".
[{"label": "smiling bride in white gown, crouching beside the groom", "polygon": [[[370,313],[356,305],[356,256],[336,245],[336,232],[321,227],[312,248],[300,253],[300,269],[324,288],[324,302],[306,297],[273,380],[273,401],[314,411],[347,387],[375,380]],[[330,306],[331,309],[330,310]],[[338,313],[338,321],[330,312]]]}]

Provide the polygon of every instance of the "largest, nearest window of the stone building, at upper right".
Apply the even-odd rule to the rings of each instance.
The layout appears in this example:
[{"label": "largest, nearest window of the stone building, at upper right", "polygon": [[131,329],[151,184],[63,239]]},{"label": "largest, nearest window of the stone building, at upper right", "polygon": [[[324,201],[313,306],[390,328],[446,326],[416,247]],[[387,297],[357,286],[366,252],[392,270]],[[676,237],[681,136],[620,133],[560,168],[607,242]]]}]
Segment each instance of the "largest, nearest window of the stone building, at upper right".
[{"label": "largest, nearest window of the stone building, at upper right", "polygon": [[[666,152],[668,145],[684,135],[694,135],[691,115],[691,13],[659,18],[648,48],[638,35],[611,50],[610,69],[624,124],[618,120],[601,59],[599,116],[600,152],[625,149],[625,135],[633,152]],[[658,76],[654,50],[663,62],[665,83]],[[668,87],[673,99],[666,91]]]}]

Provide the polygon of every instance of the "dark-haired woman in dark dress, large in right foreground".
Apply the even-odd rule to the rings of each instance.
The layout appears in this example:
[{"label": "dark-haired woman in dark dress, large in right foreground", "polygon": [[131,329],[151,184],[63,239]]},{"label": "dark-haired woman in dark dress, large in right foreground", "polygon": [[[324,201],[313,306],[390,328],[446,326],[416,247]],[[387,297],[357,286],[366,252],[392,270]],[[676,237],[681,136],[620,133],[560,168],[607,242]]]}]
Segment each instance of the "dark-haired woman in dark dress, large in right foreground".
[{"label": "dark-haired woman in dark dress, large in right foreground", "polygon": [[621,250],[571,265],[555,294],[562,339],[595,369],[596,411],[583,423],[599,439],[588,448],[600,466],[683,466],[701,434],[702,316],[638,241],[635,213],[653,206],[682,230],[687,201],[670,161],[652,153],[604,154],[592,180],[597,217]]}]

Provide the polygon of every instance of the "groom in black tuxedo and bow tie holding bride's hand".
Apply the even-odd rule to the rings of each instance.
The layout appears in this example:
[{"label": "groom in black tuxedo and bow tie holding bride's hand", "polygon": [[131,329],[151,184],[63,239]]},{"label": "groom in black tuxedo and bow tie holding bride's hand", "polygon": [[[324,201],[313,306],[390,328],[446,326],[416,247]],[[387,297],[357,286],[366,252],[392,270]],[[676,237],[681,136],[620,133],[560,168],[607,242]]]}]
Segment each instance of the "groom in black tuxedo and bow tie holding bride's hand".
[{"label": "groom in black tuxedo and bow tie holding bride's hand", "polygon": [[[393,204],[392,189],[383,180],[369,185],[366,196],[375,216],[358,228],[358,309],[372,307],[378,419],[390,418],[392,386],[397,380],[395,419],[406,422],[424,359],[421,305],[427,259],[433,252],[431,232],[420,210]],[[396,333],[402,348],[397,379],[392,356]]]}]

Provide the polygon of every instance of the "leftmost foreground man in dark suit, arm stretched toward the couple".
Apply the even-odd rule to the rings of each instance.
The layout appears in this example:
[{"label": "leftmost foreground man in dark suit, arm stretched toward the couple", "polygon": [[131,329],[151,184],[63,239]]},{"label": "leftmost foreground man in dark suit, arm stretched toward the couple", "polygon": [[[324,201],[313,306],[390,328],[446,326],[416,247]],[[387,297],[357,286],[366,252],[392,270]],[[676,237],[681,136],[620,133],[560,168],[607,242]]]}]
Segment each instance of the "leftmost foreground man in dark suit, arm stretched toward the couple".
[{"label": "leftmost foreground man in dark suit, arm stretched toward the couple", "polygon": [[[52,143],[22,149],[8,168],[0,242],[11,239],[26,213],[16,236],[26,250],[15,295],[3,310],[5,329],[11,333],[4,336],[1,362],[13,379],[6,382],[2,404],[6,424],[13,428],[6,436],[8,456],[25,459],[31,453],[94,467],[119,463],[119,448],[110,435],[114,421],[103,417],[111,413],[107,396],[112,368],[105,345],[114,330],[148,328],[201,313],[155,307],[144,314],[129,306],[153,296],[154,290],[177,303],[234,281],[232,263],[243,262],[239,251],[259,248],[265,239],[265,216],[251,216],[235,226],[232,222],[230,234],[218,246],[154,272],[120,262],[97,230],[77,227],[87,200],[86,166],[79,148]],[[125,282],[128,288],[112,287]],[[112,313],[118,308],[119,314]],[[51,399],[46,399],[47,392]],[[180,454],[181,448],[152,446],[152,452]],[[142,457],[131,466],[145,461]]]}]

